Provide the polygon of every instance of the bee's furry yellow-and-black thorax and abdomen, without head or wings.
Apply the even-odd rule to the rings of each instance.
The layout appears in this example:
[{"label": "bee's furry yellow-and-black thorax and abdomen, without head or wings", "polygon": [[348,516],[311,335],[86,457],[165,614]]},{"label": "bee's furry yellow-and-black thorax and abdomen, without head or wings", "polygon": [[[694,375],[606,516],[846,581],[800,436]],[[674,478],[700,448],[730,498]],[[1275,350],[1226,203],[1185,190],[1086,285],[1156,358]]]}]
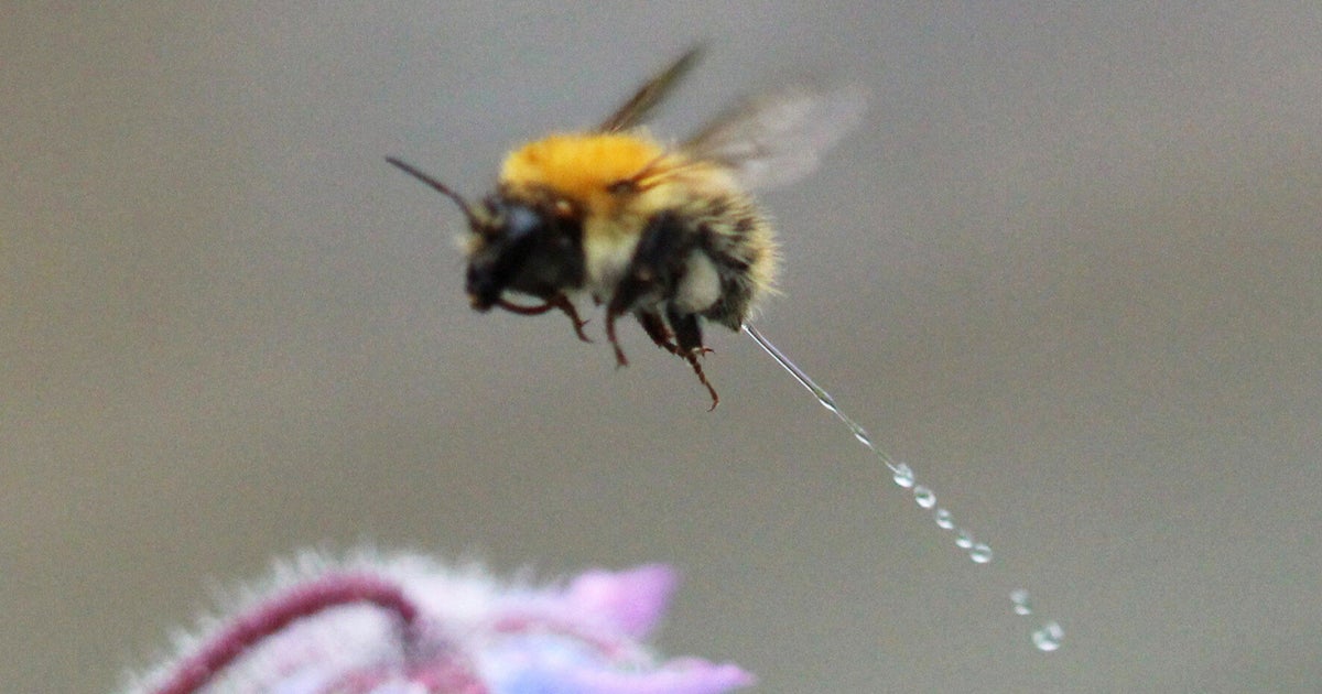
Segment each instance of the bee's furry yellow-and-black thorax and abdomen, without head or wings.
[{"label": "bee's furry yellow-and-black thorax and abdomen, without head or wings", "polygon": [[[624,312],[699,315],[738,330],[775,279],[771,225],[730,172],[666,152],[645,132],[524,145],[506,159],[497,196],[561,210],[564,233],[580,235],[566,251],[579,258],[564,259],[582,267],[580,284],[562,289],[609,305],[637,274],[658,272],[617,304]],[[481,237],[475,242],[480,255]]]}]

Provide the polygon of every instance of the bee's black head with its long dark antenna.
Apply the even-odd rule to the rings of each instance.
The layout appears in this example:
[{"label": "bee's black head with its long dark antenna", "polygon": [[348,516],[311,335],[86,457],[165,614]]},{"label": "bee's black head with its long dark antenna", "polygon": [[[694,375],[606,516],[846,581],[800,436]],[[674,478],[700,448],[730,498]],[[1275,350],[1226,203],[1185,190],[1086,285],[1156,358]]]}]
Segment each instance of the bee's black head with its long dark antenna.
[{"label": "bee's black head with its long dark antenna", "polygon": [[477,311],[490,309],[506,289],[551,299],[583,286],[582,215],[572,205],[497,192],[475,206],[408,164],[386,161],[463,210],[472,231],[465,288]]}]

